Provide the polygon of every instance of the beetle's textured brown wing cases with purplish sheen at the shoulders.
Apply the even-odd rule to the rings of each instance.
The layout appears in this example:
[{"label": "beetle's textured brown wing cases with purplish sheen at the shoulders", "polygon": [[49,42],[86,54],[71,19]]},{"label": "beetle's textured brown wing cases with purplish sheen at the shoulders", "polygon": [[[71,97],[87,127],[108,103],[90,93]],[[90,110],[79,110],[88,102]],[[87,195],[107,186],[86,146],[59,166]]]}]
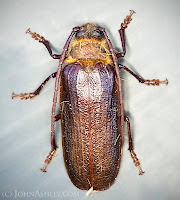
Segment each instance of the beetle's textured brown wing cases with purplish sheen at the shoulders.
[{"label": "beetle's textured brown wing cases with purplish sheen at the shoulders", "polygon": [[79,64],[62,71],[64,161],[76,187],[111,186],[119,171],[119,117],[114,68],[96,64],[91,73]]}]

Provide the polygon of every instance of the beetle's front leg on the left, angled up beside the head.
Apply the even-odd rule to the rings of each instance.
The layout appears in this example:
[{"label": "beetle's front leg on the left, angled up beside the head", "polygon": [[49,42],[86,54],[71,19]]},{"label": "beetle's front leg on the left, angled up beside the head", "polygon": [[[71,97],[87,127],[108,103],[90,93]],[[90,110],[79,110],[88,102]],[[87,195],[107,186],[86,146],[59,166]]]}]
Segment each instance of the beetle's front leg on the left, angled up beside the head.
[{"label": "beetle's front leg on the left, angled up beside the head", "polygon": [[52,54],[52,49],[50,47],[50,44],[47,40],[45,40],[45,38],[43,36],[40,36],[39,34],[35,33],[35,32],[31,32],[30,28],[28,28],[28,30],[26,31],[26,33],[29,33],[32,38],[34,38],[35,40],[38,40],[40,43],[43,43],[45,45],[45,47],[47,48],[50,56],[53,59],[60,59],[61,55],[58,54]]}]

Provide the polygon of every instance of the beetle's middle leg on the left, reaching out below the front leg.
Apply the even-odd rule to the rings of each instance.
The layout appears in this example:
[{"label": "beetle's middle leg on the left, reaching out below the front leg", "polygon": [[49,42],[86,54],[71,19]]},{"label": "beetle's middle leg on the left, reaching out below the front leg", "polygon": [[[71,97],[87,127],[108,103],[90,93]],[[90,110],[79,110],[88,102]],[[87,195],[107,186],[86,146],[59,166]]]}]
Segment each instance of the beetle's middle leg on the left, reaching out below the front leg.
[{"label": "beetle's middle leg on the left, reaching out below the front leg", "polygon": [[12,99],[14,99],[15,97],[19,97],[21,100],[22,99],[32,99],[33,97],[35,97],[36,95],[38,95],[40,93],[40,91],[42,90],[42,88],[44,87],[44,85],[51,79],[51,78],[55,78],[56,77],[57,72],[52,73],[50,76],[48,76],[44,82],[38,87],[37,90],[35,90],[35,92],[32,93],[20,93],[20,94],[15,94],[14,92],[12,93]]}]

